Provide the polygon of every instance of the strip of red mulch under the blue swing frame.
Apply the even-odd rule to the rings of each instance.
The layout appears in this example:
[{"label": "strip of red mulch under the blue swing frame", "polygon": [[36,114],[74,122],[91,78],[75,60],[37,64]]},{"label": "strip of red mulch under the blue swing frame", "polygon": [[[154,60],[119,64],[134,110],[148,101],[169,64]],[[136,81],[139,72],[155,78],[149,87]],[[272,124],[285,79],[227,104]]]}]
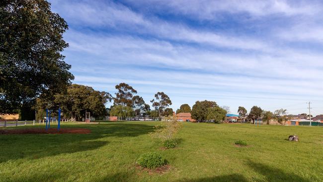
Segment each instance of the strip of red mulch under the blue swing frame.
[{"label": "strip of red mulch under the blue swing frame", "polygon": [[50,128],[46,130],[45,128],[27,128],[27,129],[10,129],[10,130],[0,130],[0,135],[11,135],[11,134],[88,134],[91,130],[85,128],[61,128],[57,131],[57,128]]}]

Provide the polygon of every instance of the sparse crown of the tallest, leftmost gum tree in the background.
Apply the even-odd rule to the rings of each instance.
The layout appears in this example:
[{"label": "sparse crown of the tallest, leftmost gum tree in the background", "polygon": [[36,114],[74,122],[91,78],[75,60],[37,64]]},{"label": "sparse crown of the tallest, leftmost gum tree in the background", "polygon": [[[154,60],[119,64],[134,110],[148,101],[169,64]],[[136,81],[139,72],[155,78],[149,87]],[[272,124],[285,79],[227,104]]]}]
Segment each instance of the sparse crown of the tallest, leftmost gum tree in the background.
[{"label": "sparse crown of the tallest, leftmost gum tree in the background", "polygon": [[116,85],[115,89],[117,89],[118,92],[115,93],[116,96],[113,98],[114,104],[132,107],[133,96],[137,91],[126,83]]}]

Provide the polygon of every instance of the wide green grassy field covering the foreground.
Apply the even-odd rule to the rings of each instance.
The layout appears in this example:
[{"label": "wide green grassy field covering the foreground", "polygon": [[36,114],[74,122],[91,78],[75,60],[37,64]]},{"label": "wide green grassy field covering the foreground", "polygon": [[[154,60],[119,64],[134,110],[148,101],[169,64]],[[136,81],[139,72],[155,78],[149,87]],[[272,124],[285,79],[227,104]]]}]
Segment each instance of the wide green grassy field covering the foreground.
[{"label": "wide green grassy field covering the foreground", "polygon": [[[64,123],[92,133],[0,135],[0,181],[323,181],[323,127],[184,123],[178,146],[161,150],[159,140],[148,135],[155,124]],[[25,127],[44,126],[19,128]],[[287,141],[292,134],[300,141]],[[248,146],[236,147],[240,139]],[[168,160],[164,174],[135,166],[141,154],[154,151]]]}]

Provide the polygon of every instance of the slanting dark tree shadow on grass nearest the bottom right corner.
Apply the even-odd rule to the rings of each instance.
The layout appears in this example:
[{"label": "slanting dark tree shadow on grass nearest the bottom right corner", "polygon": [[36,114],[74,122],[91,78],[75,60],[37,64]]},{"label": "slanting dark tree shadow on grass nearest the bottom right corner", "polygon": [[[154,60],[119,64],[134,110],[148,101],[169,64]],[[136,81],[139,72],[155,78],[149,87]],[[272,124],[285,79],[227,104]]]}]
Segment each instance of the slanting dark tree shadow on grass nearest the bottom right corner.
[{"label": "slanting dark tree shadow on grass nearest the bottom right corner", "polygon": [[249,161],[247,165],[255,172],[263,175],[266,182],[310,182],[294,173],[286,173],[281,169],[273,168],[261,163]]}]

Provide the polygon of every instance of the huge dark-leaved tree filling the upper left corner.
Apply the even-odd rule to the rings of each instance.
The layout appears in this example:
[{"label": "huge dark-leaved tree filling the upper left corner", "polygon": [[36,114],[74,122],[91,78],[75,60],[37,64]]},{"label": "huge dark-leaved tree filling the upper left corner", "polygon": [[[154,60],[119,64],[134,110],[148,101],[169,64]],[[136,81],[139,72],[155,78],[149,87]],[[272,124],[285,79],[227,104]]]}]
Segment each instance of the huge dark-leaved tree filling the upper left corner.
[{"label": "huge dark-leaved tree filling the upper left corner", "polygon": [[67,29],[46,0],[0,1],[0,113],[16,113],[38,95],[53,99],[71,84],[61,54]]}]

